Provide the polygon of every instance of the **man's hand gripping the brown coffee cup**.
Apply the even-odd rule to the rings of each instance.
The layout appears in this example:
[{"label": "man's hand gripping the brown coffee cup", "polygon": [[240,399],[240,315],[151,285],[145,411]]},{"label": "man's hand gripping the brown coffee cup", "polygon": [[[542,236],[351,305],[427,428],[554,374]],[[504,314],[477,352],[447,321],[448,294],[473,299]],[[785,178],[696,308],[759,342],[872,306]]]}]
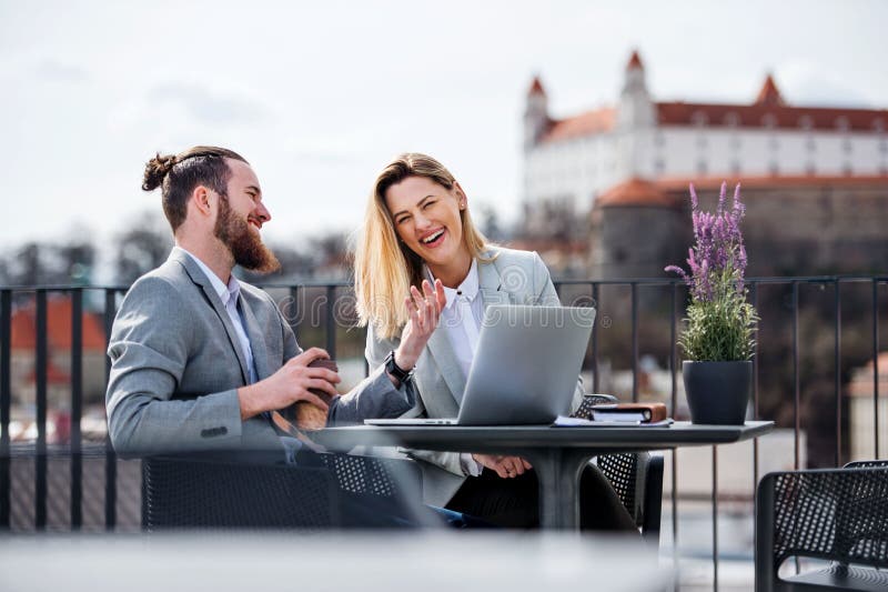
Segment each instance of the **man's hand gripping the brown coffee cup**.
[{"label": "man's hand gripping the brown coffee cup", "polygon": [[330,359],[330,354],[321,348],[311,348],[290,359],[265,380],[238,389],[241,419],[246,420],[263,411],[283,409],[296,401],[307,401],[326,411],[326,403],[309,392],[309,389],[317,389],[330,397],[336,397],[339,392],[334,384],[340,382],[340,375],[325,368],[309,368],[310,363],[321,358]]}]

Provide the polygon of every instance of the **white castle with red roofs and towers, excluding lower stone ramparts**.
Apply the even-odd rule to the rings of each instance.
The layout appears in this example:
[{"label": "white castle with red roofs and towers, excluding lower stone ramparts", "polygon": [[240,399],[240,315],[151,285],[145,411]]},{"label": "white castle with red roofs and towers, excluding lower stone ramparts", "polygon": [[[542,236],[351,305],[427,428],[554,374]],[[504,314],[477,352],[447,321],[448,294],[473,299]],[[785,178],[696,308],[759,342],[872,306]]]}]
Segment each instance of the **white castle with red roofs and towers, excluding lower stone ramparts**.
[{"label": "white castle with red roofs and towers, excluding lower stone ramparts", "polygon": [[884,109],[790,106],[770,74],[751,104],[656,101],[634,52],[614,107],[553,119],[534,79],[524,113],[524,199],[592,205],[635,177],[886,175],[887,129]]}]

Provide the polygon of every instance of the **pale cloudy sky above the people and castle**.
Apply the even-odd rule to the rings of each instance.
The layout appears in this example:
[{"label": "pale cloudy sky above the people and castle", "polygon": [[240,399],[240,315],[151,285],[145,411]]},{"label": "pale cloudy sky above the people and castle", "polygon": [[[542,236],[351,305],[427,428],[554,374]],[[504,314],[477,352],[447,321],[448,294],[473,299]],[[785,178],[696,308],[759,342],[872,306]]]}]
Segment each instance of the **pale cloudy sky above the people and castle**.
[{"label": "pale cloudy sky above the people and castle", "polygon": [[888,108],[888,2],[0,0],[0,253],[108,243],[160,211],[155,152],[216,144],[262,183],[270,242],[361,223],[421,151],[470,207],[519,212],[522,112],[615,102],[633,49],[658,100]]}]

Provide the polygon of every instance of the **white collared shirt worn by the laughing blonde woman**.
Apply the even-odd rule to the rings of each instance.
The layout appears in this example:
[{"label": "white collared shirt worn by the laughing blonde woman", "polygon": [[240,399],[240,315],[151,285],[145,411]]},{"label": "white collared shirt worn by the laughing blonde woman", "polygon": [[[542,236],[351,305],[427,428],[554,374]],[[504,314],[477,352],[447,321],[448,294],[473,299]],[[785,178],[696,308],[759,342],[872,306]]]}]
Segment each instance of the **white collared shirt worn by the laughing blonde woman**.
[{"label": "white collared shirt worn by the laughing blonde woman", "polygon": [[[427,269],[426,271],[434,285],[434,275]],[[472,368],[472,360],[478,348],[478,332],[484,315],[484,301],[478,295],[478,265],[477,261],[472,259],[472,267],[468,268],[468,273],[463,282],[456,288],[444,287],[447,303],[441,311],[438,320],[438,327],[446,332],[460,368],[466,378],[468,378],[468,369]],[[462,403],[463,393],[457,393],[457,397]],[[472,476],[480,475],[484,469],[472,458],[472,454],[466,452],[460,454],[460,464],[463,472]]]}]

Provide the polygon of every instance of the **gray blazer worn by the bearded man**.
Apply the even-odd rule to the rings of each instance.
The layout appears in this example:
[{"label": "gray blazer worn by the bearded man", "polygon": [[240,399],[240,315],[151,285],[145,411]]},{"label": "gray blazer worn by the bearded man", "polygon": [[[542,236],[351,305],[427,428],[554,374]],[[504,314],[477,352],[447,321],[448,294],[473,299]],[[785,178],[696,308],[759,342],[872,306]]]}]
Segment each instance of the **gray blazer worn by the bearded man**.
[{"label": "gray blazer worn by the bearded man", "polygon": [[[240,311],[259,380],[302,350],[272,298],[241,282]],[[124,454],[206,449],[281,449],[262,415],[241,421],[244,354],[222,301],[181,249],[130,288],[108,348],[108,428]],[[377,369],[330,407],[330,423],[397,417],[413,397]]]}]

